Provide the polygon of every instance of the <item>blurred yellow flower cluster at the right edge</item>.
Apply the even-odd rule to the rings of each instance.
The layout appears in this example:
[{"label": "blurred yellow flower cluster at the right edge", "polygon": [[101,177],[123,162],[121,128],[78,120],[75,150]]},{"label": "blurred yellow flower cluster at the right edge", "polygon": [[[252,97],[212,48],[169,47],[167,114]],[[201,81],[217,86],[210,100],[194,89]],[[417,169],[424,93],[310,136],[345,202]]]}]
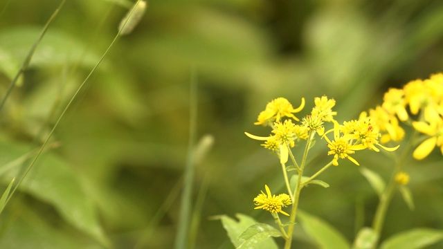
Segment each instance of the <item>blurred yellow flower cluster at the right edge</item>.
[{"label": "blurred yellow flower cluster at the right edge", "polygon": [[424,134],[423,142],[413,152],[415,159],[426,158],[435,147],[440,147],[443,154],[443,73],[413,80],[403,89],[389,89],[383,104],[370,109],[369,117],[379,127],[381,142],[404,138],[401,121]]}]

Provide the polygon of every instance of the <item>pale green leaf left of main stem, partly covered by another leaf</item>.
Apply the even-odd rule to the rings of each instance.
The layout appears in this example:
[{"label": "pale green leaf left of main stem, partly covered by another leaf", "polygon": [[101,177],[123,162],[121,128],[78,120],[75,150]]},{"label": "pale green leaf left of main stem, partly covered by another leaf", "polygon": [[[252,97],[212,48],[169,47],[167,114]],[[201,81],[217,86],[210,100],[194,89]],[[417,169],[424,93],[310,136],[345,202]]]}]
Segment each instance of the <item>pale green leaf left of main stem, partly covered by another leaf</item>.
[{"label": "pale green leaf left of main stem, partly covered by another leaf", "polygon": [[[239,236],[242,235],[242,233],[249,227],[251,227],[251,225],[257,224],[257,221],[251,218],[251,216],[247,216],[245,214],[236,214],[235,216],[237,216],[239,221],[235,221],[235,219],[232,219],[226,215],[220,215],[216,218],[221,220],[223,228],[226,230],[226,232],[228,232],[230,241],[233,243],[235,248],[237,248],[244,243],[244,241],[239,240]],[[269,238],[255,245],[254,248],[278,249],[278,246],[272,238]]]}]

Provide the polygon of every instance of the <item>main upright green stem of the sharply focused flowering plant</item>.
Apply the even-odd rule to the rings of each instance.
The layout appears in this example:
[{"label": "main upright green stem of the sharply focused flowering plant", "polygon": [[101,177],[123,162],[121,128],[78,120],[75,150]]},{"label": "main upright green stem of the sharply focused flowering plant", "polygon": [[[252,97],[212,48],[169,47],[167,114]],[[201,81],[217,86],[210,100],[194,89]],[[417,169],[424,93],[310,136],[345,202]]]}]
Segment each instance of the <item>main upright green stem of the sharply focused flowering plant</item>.
[{"label": "main upright green stem of the sharply focused flowering plant", "polygon": [[300,171],[298,172],[297,186],[294,191],[295,196],[294,196],[294,201],[292,203],[292,208],[291,208],[291,216],[289,216],[289,228],[288,228],[288,232],[287,232],[288,239],[286,240],[286,243],[284,243],[284,249],[291,249],[293,228],[296,225],[298,199],[300,199],[300,192],[303,187],[301,184],[302,183],[302,176],[303,176],[303,169],[305,168],[307,152],[309,151],[309,147],[311,146],[312,138],[314,138],[314,135],[315,135],[314,131],[309,131],[309,138],[306,142],[305,152],[303,152],[302,164],[300,165]]}]

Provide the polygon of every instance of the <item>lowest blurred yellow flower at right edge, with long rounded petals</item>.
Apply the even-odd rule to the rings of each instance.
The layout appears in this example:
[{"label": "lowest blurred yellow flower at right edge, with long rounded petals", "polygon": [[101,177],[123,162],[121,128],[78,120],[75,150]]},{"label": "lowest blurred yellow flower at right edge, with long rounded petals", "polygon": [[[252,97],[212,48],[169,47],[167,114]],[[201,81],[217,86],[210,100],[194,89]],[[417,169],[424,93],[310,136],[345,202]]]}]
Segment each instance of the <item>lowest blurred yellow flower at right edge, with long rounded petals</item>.
[{"label": "lowest blurred yellow flower at right edge, with long rounded petals", "polygon": [[443,154],[443,118],[428,124],[426,122],[413,122],[413,127],[419,132],[430,136],[422,142],[413,152],[413,157],[417,160],[426,158],[435,147],[440,147]]}]

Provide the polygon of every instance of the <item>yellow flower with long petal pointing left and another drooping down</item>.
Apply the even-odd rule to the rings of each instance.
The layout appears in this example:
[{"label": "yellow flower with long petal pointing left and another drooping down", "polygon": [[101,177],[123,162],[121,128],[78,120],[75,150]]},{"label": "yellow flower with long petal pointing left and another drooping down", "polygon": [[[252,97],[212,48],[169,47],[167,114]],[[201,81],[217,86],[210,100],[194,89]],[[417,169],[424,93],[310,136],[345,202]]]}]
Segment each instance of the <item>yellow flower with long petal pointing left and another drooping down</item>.
[{"label": "yellow flower with long petal pointing left and another drooping down", "polygon": [[289,157],[289,148],[294,147],[295,140],[306,139],[305,131],[302,127],[293,124],[292,120],[284,120],[284,122],[275,122],[272,133],[273,136],[260,137],[245,132],[246,136],[255,140],[266,141],[264,147],[273,151],[280,152],[280,163],[287,163]]}]

